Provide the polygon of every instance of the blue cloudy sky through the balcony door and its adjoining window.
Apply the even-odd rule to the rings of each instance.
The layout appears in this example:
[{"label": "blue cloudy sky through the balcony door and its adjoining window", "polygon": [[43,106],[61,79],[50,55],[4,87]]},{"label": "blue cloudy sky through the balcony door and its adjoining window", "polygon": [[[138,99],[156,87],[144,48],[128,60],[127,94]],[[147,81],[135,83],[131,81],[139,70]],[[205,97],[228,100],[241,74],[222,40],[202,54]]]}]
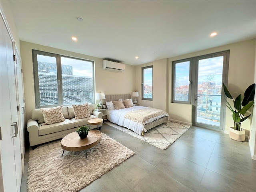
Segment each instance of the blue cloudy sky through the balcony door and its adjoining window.
[{"label": "blue cloudy sky through the balcony door and its adjoining window", "polygon": [[[202,59],[198,61],[198,82],[205,82],[206,75],[215,74],[214,82],[222,82],[223,56]],[[189,61],[176,64],[176,84],[188,85]]]}]

